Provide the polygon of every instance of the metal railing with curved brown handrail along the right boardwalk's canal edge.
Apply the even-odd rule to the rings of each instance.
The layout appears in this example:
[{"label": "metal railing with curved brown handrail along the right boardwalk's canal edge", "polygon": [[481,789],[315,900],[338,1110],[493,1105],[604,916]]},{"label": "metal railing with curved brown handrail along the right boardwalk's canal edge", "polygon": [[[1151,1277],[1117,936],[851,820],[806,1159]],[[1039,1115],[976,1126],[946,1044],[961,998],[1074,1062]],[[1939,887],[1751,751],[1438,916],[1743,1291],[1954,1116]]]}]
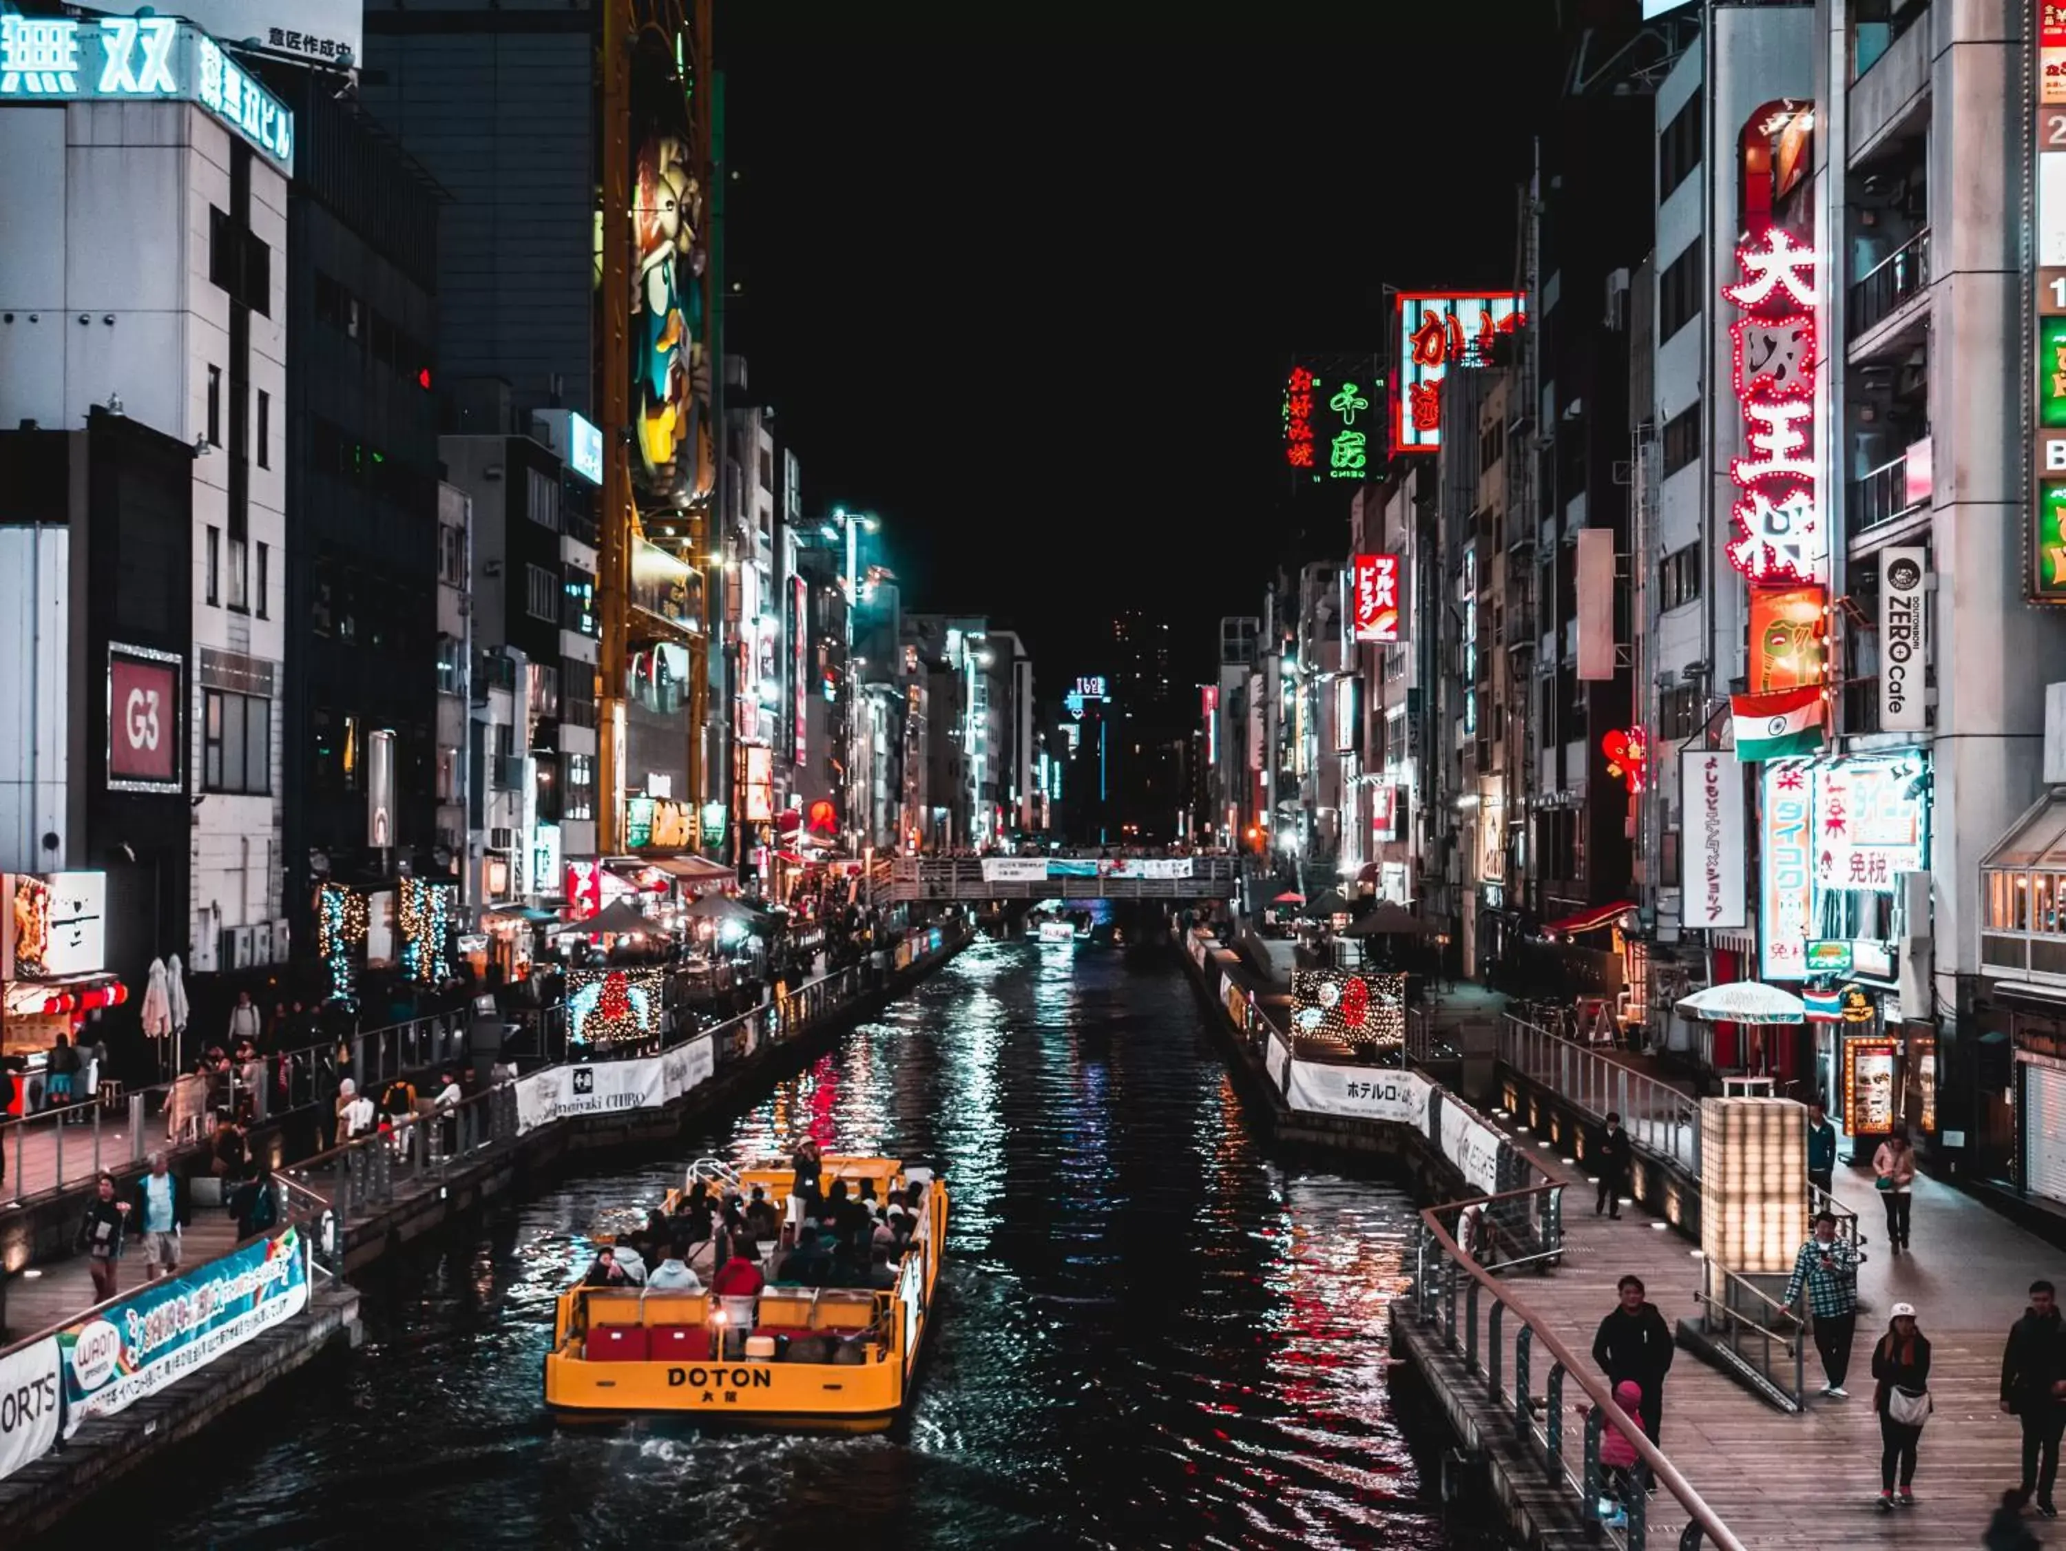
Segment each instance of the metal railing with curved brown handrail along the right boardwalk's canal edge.
[{"label": "metal railing with curved brown handrail along the right boardwalk's canal edge", "polygon": [[[1597,1543],[1620,1551],[1647,1549],[1647,1487],[1655,1481],[1684,1510],[1680,1551],[1700,1551],[1707,1545],[1719,1551],[1744,1551],[1744,1543],[1721,1516],[1616,1404],[1607,1382],[1516,1297],[1512,1283],[1481,1266],[1442,1223],[1444,1214],[1469,1208],[1479,1208],[1479,1216],[1488,1216],[1494,1208],[1533,1194],[1537,1190],[1502,1192],[1430,1206],[1419,1214],[1413,1231],[1413,1283],[1407,1291],[1415,1322],[1446,1353],[1461,1351],[1465,1373],[1483,1380],[1494,1404],[1510,1419],[1523,1456],[1541,1470],[1552,1491],[1572,1499],[1589,1537],[1597,1534]],[[1537,1371],[1539,1357],[1547,1357],[1547,1373]],[[1576,1384],[1589,1402],[1583,1429],[1564,1425],[1570,1384]],[[1620,1503],[1626,1522],[1614,1522],[1603,1512],[1603,1497],[1609,1493],[1607,1475],[1599,1464],[1599,1444],[1607,1427],[1618,1429],[1636,1450],[1634,1489],[1624,1493],[1626,1501]],[[1578,1431],[1578,1437],[1572,1437],[1572,1431]]]}]

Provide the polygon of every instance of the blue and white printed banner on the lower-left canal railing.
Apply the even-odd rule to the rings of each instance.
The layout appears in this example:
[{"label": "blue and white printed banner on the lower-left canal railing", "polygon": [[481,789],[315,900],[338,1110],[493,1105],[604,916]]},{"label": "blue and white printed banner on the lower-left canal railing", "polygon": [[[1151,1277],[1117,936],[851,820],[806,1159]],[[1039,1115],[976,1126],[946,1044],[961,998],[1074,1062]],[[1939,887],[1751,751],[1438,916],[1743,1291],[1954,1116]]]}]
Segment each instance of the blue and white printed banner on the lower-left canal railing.
[{"label": "blue and white printed banner on the lower-left canal railing", "polygon": [[308,1245],[287,1229],[60,1330],[64,1435],[157,1394],[304,1307]]}]

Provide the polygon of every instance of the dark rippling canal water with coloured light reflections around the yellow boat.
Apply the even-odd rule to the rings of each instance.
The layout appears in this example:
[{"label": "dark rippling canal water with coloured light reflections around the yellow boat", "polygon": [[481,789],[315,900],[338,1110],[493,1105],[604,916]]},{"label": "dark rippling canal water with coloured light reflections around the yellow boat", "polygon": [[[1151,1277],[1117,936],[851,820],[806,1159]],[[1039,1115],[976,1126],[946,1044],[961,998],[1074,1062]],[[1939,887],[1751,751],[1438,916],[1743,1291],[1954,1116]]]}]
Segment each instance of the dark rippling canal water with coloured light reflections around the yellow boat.
[{"label": "dark rippling canal water with coloured light reflections around the yellow boat", "polygon": [[[938,1167],[946,1299],[878,1437],[556,1427],[554,1295],[711,1152],[804,1132]],[[378,1276],[366,1347],[62,1530],[153,1547],[1407,1547],[1444,1518],[1388,1384],[1411,1208],[1277,1161],[1182,975],[977,944],[682,1157],[566,1183]]]}]

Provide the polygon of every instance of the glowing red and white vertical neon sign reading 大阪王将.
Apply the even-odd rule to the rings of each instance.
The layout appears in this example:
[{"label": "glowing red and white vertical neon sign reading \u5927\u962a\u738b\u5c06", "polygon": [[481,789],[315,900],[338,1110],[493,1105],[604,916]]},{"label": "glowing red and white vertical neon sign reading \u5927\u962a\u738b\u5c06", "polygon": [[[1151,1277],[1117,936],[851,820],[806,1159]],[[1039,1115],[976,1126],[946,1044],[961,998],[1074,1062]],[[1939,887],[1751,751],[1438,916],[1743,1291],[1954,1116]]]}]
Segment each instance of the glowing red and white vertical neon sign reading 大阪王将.
[{"label": "glowing red and white vertical neon sign reading \u5927\u962a\u738b\u5c06", "polygon": [[1729,326],[1731,382],[1744,411],[1750,456],[1731,458],[1738,537],[1729,564],[1754,582],[1816,582],[1828,560],[1828,531],[1816,502],[1814,376],[1822,359],[1814,333],[1814,248],[1785,227],[1735,250],[1744,279],[1721,287],[1744,310]]}]

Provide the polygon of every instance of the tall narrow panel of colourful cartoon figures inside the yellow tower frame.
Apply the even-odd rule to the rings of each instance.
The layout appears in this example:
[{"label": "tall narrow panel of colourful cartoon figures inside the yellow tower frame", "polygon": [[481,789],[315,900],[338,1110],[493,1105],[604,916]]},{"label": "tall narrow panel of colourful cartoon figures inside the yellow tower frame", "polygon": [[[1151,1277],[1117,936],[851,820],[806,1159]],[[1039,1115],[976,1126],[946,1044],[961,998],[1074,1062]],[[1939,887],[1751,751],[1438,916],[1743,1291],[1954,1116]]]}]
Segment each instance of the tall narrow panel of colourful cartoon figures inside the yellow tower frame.
[{"label": "tall narrow panel of colourful cartoon figures inside the yellow tower frame", "polygon": [[[661,17],[632,60],[632,481],[657,500],[707,496],[715,479],[709,357],[709,190],[688,91]],[[682,43],[690,43],[688,29]]]}]

